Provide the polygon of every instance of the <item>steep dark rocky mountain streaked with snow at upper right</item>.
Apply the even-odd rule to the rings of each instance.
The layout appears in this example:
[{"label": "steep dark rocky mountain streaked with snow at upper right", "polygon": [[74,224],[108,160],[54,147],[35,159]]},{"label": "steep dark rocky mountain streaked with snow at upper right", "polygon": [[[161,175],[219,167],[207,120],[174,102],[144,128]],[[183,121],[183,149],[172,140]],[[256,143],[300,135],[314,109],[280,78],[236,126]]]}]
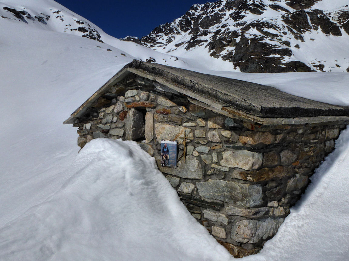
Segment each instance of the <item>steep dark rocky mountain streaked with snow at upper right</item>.
[{"label": "steep dark rocky mountain streaked with snow at upper right", "polygon": [[[198,54],[242,72],[349,72],[347,0],[219,0],[142,37],[144,46],[176,56]],[[138,38],[127,41],[139,42]]]}]

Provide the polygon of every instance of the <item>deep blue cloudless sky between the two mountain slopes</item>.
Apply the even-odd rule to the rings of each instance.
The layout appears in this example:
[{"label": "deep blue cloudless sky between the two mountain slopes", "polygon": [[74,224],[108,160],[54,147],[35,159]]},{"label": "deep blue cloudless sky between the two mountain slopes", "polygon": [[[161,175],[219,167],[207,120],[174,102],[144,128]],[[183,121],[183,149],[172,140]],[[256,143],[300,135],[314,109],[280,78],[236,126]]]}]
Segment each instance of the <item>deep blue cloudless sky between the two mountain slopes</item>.
[{"label": "deep blue cloudless sky between the two mountain slopes", "polygon": [[[55,0],[117,38],[142,37],[204,0]],[[211,2],[215,2],[212,0]]]}]

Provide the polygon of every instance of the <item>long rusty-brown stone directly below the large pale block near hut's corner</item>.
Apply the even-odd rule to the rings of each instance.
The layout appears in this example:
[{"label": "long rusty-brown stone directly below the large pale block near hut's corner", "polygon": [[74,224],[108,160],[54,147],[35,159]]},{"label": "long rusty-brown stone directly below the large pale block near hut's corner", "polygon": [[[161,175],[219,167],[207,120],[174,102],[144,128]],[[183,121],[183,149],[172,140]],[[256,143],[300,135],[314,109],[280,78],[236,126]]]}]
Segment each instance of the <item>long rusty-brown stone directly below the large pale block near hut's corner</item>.
[{"label": "long rusty-brown stone directly below the large pale block near hut's corner", "polygon": [[277,166],[275,168],[262,168],[259,171],[239,172],[243,180],[252,182],[268,181],[271,179],[281,179],[293,174],[292,167]]}]

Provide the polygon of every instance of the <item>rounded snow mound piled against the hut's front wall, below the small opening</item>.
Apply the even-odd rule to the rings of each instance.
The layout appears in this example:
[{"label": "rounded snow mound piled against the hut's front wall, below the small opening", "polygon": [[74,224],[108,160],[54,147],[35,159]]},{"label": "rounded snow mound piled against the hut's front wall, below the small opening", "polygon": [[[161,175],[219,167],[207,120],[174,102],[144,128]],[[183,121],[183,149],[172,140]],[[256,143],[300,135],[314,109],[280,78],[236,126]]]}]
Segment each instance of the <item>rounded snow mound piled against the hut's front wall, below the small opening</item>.
[{"label": "rounded snow mound piled against the hut's front wall, below the small opening", "polygon": [[0,229],[0,260],[232,260],[135,142],[95,139],[50,198]]}]

